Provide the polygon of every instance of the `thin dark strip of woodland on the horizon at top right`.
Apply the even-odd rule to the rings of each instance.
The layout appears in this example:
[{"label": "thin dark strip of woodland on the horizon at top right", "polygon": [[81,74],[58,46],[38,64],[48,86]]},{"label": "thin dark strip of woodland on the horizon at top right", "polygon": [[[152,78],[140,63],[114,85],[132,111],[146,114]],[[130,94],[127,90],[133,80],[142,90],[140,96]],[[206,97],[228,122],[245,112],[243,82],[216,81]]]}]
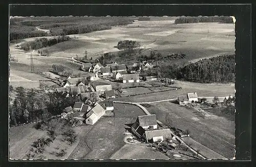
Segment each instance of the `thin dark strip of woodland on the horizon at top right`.
[{"label": "thin dark strip of woodland on the horizon at top right", "polygon": [[175,19],[176,24],[180,23],[198,23],[198,22],[222,22],[222,23],[233,23],[233,19],[229,16],[182,16]]}]

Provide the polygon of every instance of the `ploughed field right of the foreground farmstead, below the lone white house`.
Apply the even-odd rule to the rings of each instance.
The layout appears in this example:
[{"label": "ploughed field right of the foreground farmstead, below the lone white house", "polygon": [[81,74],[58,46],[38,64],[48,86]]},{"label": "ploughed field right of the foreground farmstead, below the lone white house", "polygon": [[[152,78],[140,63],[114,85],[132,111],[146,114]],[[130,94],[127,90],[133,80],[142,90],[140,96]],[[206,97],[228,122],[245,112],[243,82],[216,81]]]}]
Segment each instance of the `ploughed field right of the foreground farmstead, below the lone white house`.
[{"label": "ploughed field right of the foreground farmstead, below the lone white house", "polygon": [[211,113],[203,117],[194,109],[187,109],[172,102],[151,104],[147,108],[151,114],[163,123],[166,114],[172,117],[172,124],[176,128],[190,131],[190,136],[200,144],[209,147],[217,153],[227,157],[234,157],[234,121]]}]

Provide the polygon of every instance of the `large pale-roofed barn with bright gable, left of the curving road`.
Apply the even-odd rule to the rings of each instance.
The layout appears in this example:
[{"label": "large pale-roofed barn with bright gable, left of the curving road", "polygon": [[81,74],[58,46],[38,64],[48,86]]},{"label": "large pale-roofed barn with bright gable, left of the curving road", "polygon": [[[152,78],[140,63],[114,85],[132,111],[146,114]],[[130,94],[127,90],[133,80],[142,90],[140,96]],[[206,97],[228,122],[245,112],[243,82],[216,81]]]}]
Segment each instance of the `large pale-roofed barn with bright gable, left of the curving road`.
[{"label": "large pale-roofed barn with bright gable, left of the curving road", "polygon": [[104,108],[96,103],[96,105],[86,115],[86,124],[94,125],[104,113]]}]

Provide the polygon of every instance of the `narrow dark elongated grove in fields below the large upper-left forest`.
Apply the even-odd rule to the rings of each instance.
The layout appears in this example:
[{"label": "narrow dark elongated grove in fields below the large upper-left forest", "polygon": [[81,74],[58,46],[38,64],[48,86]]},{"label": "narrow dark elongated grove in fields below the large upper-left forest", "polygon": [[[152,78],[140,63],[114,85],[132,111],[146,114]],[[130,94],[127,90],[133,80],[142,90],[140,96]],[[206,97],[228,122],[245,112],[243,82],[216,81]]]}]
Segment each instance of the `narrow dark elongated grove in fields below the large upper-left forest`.
[{"label": "narrow dark elongated grove in fields below the large upper-left forest", "polygon": [[71,40],[69,36],[58,36],[53,39],[40,38],[34,41],[24,42],[20,44],[20,49],[24,51],[37,50],[43,47],[52,46],[54,44]]}]

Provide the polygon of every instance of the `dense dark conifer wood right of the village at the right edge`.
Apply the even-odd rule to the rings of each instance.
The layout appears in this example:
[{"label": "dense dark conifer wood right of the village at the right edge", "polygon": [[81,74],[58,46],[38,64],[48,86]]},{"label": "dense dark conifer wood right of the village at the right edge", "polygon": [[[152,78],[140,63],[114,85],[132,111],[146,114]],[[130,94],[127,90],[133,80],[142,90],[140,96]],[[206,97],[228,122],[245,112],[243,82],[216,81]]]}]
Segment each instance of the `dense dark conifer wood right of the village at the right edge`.
[{"label": "dense dark conifer wood right of the village at the right edge", "polygon": [[234,82],[235,56],[223,55],[203,59],[187,65],[174,63],[159,67],[161,77],[184,79],[198,83],[228,83]]}]

